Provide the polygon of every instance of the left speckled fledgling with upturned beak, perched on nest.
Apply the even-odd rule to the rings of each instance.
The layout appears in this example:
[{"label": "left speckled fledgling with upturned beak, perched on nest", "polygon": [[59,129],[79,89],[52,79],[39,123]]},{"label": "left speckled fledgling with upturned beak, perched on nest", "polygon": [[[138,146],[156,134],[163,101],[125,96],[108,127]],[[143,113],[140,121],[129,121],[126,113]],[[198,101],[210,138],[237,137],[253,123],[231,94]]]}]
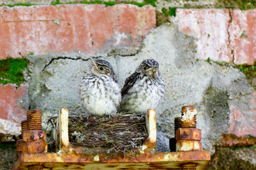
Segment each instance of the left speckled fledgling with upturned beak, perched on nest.
[{"label": "left speckled fledgling with upturned beak, perched on nest", "polygon": [[113,115],[121,102],[121,89],[112,65],[105,60],[94,60],[91,72],[80,82],[80,101],[89,115]]}]

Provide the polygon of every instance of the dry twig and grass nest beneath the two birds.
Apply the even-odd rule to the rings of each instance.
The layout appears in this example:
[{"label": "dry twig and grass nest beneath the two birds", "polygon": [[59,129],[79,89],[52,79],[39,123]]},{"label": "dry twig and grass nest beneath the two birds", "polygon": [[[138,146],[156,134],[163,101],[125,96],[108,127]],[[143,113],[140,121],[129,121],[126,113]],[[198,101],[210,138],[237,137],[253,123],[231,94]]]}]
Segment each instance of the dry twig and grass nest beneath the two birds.
[{"label": "dry twig and grass nest beneath the two birds", "polygon": [[147,137],[144,114],[70,117],[68,135],[72,145],[112,147],[124,151],[142,145]]}]

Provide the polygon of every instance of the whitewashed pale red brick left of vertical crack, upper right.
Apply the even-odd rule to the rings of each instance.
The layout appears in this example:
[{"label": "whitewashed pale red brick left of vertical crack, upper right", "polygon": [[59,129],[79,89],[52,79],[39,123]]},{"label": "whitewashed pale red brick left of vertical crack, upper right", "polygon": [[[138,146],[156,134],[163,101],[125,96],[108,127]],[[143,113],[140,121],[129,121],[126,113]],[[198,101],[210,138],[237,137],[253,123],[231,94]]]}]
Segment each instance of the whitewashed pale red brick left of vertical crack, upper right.
[{"label": "whitewashed pale red brick left of vertical crack, upper right", "polygon": [[181,9],[176,10],[178,29],[196,40],[196,58],[218,62],[232,62],[228,47],[228,9]]}]

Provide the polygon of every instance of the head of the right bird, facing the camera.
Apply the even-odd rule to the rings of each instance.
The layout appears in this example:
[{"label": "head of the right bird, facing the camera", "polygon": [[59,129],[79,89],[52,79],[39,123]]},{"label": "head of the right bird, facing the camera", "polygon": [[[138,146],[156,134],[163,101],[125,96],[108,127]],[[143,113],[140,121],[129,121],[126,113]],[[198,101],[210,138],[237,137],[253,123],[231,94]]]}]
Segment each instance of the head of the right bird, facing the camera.
[{"label": "head of the right bird, facing the camera", "polygon": [[136,72],[146,77],[157,79],[157,77],[159,77],[159,64],[156,60],[144,60],[139,67],[137,67]]}]

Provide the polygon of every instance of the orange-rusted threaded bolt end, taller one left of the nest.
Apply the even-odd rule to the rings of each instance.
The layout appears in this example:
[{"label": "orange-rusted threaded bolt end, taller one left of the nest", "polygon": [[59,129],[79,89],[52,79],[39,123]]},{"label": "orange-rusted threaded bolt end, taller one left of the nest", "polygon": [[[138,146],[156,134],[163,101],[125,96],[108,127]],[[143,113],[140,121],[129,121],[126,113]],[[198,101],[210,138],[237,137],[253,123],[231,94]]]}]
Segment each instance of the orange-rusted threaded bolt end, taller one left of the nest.
[{"label": "orange-rusted threaded bolt end, taller one left of the nest", "polygon": [[42,130],[42,113],[40,110],[27,111],[28,130]]}]

